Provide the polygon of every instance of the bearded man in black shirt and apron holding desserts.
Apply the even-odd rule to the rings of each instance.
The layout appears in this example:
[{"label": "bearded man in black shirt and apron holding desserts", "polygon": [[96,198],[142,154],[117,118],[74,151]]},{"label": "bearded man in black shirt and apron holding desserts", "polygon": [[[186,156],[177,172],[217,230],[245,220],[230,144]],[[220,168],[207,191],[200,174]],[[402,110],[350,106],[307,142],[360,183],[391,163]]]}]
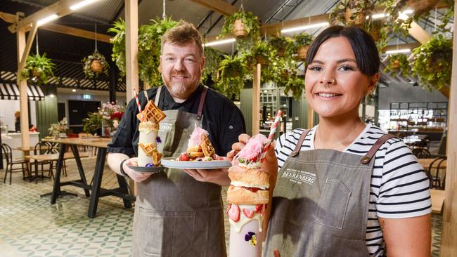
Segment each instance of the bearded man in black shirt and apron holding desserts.
[{"label": "bearded man in black shirt and apron holding desserts", "polygon": [[[186,151],[195,126],[210,133],[221,156],[245,131],[240,110],[199,83],[204,65],[202,39],[193,25],[180,22],[163,35],[160,71],[165,86],[146,93],[167,114],[159,132],[165,157]],[[139,100],[144,107],[143,93]],[[129,157],[138,154],[138,112],[131,100],[108,145],[110,168],[138,182],[133,256],[226,256],[221,185],[230,184],[227,171],[165,169],[151,175],[129,169]]]}]

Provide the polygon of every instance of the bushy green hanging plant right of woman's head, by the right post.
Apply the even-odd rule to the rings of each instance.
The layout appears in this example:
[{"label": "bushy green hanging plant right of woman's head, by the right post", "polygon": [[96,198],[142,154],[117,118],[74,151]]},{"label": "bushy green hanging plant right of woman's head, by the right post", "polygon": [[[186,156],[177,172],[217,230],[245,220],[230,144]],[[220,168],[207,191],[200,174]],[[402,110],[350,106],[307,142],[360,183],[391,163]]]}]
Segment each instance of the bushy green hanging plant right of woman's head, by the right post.
[{"label": "bushy green hanging plant right of woman's head, by the right post", "polygon": [[442,34],[413,50],[412,71],[422,81],[422,86],[432,91],[451,83],[452,53],[452,40]]}]

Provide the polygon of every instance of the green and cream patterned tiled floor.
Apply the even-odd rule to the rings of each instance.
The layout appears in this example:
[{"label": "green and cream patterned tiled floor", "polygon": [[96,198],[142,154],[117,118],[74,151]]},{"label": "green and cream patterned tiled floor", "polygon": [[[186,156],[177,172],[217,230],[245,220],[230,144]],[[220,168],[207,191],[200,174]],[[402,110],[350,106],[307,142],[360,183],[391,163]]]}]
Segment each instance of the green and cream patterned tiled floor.
[{"label": "green and cream patterned tiled floor", "polygon": [[[86,178],[92,177],[95,158],[84,159]],[[78,178],[75,162],[67,161],[68,177]],[[4,171],[0,171],[3,178]],[[112,171],[105,166],[102,187],[117,187]],[[52,180],[30,183],[13,173],[13,184],[0,182],[0,256],[130,256],[133,209],[124,209],[122,200],[103,197],[98,203],[96,218],[88,218],[89,199],[77,187],[63,190],[77,193],[78,197],[58,198],[51,205],[49,197]],[[222,197],[226,199],[226,188]],[[226,206],[226,204],[224,204]],[[432,215],[432,256],[439,256],[442,218]],[[230,225],[226,220],[226,242]],[[227,244],[228,249],[228,244]]]}]

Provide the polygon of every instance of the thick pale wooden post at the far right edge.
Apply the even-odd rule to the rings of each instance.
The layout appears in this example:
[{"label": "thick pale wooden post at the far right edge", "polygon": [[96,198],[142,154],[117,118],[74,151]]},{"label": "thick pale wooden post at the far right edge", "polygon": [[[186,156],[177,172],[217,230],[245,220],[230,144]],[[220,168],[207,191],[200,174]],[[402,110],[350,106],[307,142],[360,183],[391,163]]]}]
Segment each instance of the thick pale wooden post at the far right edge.
[{"label": "thick pale wooden post at the far right edge", "polygon": [[[454,8],[457,2],[454,3]],[[457,13],[454,13],[454,20]],[[457,24],[453,24],[454,32]],[[453,34],[451,93],[449,97],[448,128],[447,128],[447,168],[446,192],[444,196],[443,234],[441,239],[442,257],[457,256],[457,49],[456,34]],[[453,143],[454,142],[454,143]]]}]

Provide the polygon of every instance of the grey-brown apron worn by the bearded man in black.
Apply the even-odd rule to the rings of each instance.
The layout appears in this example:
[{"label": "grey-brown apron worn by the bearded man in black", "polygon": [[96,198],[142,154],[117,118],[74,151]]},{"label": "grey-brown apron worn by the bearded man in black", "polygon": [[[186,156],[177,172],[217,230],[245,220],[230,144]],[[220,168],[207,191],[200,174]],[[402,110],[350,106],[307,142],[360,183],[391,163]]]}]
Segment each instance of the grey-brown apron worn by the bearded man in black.
[{"label": "grey-brown apron worn by the bearded man in black", "polygon": [[[164,157],[187,150],[193,129],[201,127],[206,93],[205,86],[198,114],[164,111],[167,117],[160,122],[158,144]],[[199,182],[179,169],[165,169],[136,185],[133,256],[226,256],[219,185]]]}]

